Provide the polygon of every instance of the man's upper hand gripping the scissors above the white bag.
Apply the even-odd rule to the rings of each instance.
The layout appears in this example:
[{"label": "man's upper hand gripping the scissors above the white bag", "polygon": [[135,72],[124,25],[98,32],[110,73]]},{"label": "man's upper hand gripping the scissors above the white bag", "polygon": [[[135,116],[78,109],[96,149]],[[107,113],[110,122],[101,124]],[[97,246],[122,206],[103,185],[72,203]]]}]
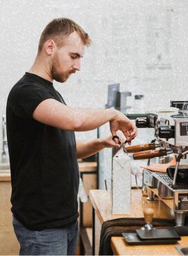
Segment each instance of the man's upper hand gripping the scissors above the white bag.
[{"label": "man's upper hand gripping the scissors above the white bag", "polygon": [[[110,121],[110,129],[113,136],[118,135],[118,130],[122,131],[126,140],[132,140],[138,134],[135,125],[120,111],[117,111],[117,115]],[[118,143],[117,138],[115,138],[115,143]],[[131,145],[131,143],[129,143],[129,145]]]}]

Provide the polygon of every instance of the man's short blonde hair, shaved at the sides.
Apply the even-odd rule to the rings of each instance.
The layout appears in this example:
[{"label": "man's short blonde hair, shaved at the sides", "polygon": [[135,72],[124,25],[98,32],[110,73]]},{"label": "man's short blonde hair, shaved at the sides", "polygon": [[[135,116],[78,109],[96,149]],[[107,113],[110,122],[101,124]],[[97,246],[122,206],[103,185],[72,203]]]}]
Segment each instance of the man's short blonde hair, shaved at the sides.
[{"label": "man's short blonde hair, shaved at the sides", "polygon": [[67,18],[53,19],[41,33],[41,37],[39,39],[38,54],[41,53],[44,43],[49,39],[53,39],[55,44],[57,44],[57,47],[61,48],[66,37],[68,37],[68,35],[74,31],[76,31],[82,38],[84,45],[91,45],[91,38],[78,24],[75,23],[75,21]]}]

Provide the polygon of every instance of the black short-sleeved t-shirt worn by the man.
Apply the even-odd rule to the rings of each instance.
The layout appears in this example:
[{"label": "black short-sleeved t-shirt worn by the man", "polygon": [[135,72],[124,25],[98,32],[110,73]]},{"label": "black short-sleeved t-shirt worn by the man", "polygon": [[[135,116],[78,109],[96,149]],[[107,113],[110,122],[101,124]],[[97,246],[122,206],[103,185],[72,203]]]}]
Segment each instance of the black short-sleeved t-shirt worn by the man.
[{"label": "black short-sleeved t-shirt worn by the man", "polygon": [[75,134],[32,118],[48,98],[65,104],[52,82],[26,73],[12,87],[6,107],[11,210],[30,230],[58,228],[78,217]]}]

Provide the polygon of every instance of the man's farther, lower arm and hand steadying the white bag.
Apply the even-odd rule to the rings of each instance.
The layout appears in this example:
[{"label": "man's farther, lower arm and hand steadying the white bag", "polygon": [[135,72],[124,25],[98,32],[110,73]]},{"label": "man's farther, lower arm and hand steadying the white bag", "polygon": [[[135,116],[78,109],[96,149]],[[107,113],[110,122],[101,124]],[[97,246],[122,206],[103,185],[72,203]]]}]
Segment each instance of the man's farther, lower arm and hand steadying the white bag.
[{"label": "man's farther, lower arm and hand steadying the white bag", "polygon": [[90,141],[76,140],[77,159],[92,156],[93,154],[100,152],[100,150],[104,149],[105,147],[118,148],[120,145],[115,144],[112,136],[106,138],[96,138],[95,140]]}]

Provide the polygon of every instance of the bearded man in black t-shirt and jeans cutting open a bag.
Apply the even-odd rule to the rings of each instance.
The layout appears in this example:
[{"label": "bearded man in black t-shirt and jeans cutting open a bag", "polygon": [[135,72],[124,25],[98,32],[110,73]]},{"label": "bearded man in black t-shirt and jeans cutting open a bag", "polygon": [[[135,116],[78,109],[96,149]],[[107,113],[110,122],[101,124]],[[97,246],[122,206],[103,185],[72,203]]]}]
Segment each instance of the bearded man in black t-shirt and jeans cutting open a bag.
[{"label": "bearded man in black t-shirt and jeans cutting open a bag", "polygon": [[[77,158],[104,147],[120,130],[131,140],[136,127],[115,109],[67,107],[53,87],[80,70],[91,39],[71,19],[54,19],[39,40],[34,64],[12,87],[7,102],[7,135],[12,213],[20,255],[75,255],[77,248]],[[75,141],[74,131],[109,122],[108,138]],[[129,143],[130,145],[130,143]]]}]

